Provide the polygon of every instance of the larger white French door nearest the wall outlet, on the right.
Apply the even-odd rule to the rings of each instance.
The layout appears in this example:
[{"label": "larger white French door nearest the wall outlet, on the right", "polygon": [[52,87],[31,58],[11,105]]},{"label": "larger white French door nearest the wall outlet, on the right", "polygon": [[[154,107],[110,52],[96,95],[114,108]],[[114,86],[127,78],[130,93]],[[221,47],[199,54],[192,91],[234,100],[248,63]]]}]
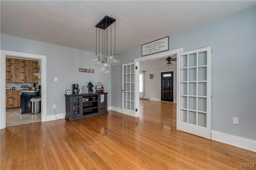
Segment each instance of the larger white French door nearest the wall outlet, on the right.
[{"label": "larger white French door nearest the wall outlet, on the right", "polygon": [[177,130],[211,139],[211,47],[177,53]]}]

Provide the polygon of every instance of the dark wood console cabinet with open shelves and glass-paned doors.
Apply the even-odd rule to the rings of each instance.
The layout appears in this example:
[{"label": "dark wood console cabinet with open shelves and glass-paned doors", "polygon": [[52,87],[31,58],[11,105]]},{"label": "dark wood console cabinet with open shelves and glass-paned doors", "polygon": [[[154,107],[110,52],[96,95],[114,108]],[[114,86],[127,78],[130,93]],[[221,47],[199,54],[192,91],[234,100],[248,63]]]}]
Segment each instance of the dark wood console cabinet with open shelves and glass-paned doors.
[{"label": "dark wood console cabinet with open shelves and glass-paned doors", "polygon": [[69,121],[108,113],[108,93],[65,94],[66,116]]}]

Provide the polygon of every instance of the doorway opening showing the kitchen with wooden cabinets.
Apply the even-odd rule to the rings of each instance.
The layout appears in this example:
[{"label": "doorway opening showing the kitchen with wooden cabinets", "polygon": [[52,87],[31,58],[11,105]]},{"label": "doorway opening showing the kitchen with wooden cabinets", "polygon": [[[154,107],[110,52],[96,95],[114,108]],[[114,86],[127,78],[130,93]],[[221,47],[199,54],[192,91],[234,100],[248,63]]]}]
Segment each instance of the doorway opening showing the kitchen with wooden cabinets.
[{"label": "doorway opening showing the kitchen with wooden cabinets", "polygon": [[[41,81],[36,79],[40,74],[41,60],[25,59],[6,55],[6,127],[41,121],[40,101]],[[38,77],[38,76],[37,76]],[[33,111],[34,109],[34,111]],[[36,113],[36,114],[33,114]]]}]

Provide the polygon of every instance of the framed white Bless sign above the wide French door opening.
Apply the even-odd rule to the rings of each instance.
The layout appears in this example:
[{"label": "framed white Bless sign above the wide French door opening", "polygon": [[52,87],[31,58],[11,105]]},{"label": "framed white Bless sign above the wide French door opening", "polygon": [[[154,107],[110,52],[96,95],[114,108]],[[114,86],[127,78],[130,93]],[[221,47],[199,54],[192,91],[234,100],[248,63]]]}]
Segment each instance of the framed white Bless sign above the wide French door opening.
[{"label": "framed white Bless sign above the wide French door opening", "polygon": [[143,44],[142,56],[169,50],[169,37]]}]

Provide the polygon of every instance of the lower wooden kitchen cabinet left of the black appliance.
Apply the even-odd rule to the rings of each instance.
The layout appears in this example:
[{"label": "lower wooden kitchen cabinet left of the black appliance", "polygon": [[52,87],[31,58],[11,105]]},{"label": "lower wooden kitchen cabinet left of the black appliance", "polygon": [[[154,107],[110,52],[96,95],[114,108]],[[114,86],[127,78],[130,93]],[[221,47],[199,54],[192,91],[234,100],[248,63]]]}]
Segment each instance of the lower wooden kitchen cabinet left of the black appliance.
[{"label": "lower wooden kitchen cabinet left of the black appliance", "polygon": [[20,90],[6,90],[6,109],[20,107]]}]

